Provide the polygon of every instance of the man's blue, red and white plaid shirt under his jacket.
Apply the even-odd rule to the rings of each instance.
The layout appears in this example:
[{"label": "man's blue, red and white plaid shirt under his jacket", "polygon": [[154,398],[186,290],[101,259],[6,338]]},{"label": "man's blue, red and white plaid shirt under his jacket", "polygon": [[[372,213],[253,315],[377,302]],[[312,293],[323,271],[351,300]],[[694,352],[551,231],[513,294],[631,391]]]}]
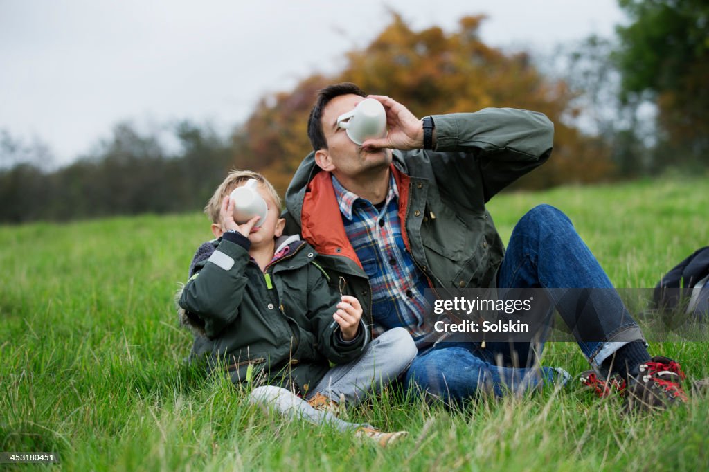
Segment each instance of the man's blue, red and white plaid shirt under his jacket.
[{"label": "man's blue, red and white plaid shirt under his jacket", "polygon": [[333,187],[347,238],[372,286],[373,335],[400,326],[413,337],[423,335],[424,314],[430,308],[423,296],[428,281],[404,245],[393,176],[379,209],[345,189],[334,175]]}]

